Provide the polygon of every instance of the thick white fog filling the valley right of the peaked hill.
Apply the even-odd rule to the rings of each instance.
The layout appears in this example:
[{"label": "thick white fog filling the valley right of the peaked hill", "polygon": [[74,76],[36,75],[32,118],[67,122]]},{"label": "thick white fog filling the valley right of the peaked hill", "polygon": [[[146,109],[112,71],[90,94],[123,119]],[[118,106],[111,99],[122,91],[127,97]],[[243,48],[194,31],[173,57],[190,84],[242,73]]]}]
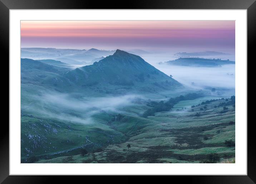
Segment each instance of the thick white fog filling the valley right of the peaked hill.
[{"label": "thick white fog filling the valley right of the peaked hill", "polygon": [[[199,55],[200,53],[208,52],[197,53]],[[219,53],[220,52],[216,52],[215,55],[210,55],[212,53],[209,52],[208,55],[205,55],[204,57],[201,56],[200,58],[220,58],[222,60],[230,59],[232,61],[235,61],[234,55],[219,55]],[[158,70],[164,72],[166,75],[172,75],[175,80],[185,86],[193,87],[195,89],[203,89],[205,87],[225,88],[228,90],[232,90],[235,93],[235,65],[222,65],[218,67],[168,65],[164,62],[175,60],[180,57],[176,54],[168,53],[146,54],[141,57],[145,61],[156,67]],[[159,64],[159,62],[162,62],[163,64]]]}]

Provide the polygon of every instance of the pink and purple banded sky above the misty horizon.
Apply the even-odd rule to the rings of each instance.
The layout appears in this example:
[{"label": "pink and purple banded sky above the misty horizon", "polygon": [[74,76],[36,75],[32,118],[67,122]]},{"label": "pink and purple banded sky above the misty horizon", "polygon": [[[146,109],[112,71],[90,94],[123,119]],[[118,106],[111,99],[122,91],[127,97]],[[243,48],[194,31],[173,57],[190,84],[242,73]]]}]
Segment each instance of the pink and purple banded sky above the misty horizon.
[{"label": "pink and purple banded sky above the misty horizon", "polygon": [[235,21],[21,21],[21,47],[235,51]]}]

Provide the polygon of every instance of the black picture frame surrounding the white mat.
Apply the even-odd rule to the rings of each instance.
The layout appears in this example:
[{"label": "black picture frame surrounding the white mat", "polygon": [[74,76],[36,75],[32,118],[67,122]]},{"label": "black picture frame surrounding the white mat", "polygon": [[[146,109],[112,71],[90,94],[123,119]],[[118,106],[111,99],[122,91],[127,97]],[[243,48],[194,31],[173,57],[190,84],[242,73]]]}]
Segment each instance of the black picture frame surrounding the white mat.
[{"label": "black picture frame surrounding the white mat", "polygon": [[[10,9],[247,9],[247,60],[252,60],[255,52],[253,50],[256,40],[255,0],[130,0],[125,2],[112,0],[101,1],[100,3],[89,0],[0,0],[0,51],[2,52],[1,58],[4,58],[2,66],[4,62],[9,61]],[[7,62],[5,64],[7,65]],[[7,82],[7,74],[1,73],[1,75],[2,79]],[[5,92],[7,93],[7,90]],[[10,91],[8,90],[8,92]],[[172,178],[187,180],[189,183],[256,183],[254,123],[252,121],[247,123],[247,175],[172,176]],[[67,178],[65,176],[9,175],[9,125],[6,121],[1,123],[0,138],[0,182],[53,183],[53,179],[57,179],[58,182],[61,179],[65,182],[69,180],[74,182],[73,177]]]}]

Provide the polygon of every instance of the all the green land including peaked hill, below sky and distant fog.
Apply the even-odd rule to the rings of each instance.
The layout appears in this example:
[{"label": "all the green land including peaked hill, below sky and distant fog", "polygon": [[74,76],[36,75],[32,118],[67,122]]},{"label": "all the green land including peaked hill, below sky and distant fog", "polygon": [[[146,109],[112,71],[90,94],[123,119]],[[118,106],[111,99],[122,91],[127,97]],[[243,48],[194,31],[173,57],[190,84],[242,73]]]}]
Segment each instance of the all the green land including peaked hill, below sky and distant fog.
[{"label": "all the green land including peaked hill, below sky and distant fog", "polygon": [[235,159],[234,90],[183,85],[121,50],[69,66],[21,58],[21,163]]}]

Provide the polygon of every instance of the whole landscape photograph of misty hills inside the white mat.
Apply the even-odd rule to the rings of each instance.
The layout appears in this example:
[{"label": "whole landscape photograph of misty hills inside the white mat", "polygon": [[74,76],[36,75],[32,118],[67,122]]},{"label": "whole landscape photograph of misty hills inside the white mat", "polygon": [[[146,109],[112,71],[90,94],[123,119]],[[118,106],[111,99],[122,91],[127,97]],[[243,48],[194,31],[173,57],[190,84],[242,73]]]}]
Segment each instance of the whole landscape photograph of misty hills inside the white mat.
[{"label": "whole landscape photograph of misty hills inside the white mat", "polygon": [[21,163],[235,163],[235,21],[21,21],[20,34]]}]

